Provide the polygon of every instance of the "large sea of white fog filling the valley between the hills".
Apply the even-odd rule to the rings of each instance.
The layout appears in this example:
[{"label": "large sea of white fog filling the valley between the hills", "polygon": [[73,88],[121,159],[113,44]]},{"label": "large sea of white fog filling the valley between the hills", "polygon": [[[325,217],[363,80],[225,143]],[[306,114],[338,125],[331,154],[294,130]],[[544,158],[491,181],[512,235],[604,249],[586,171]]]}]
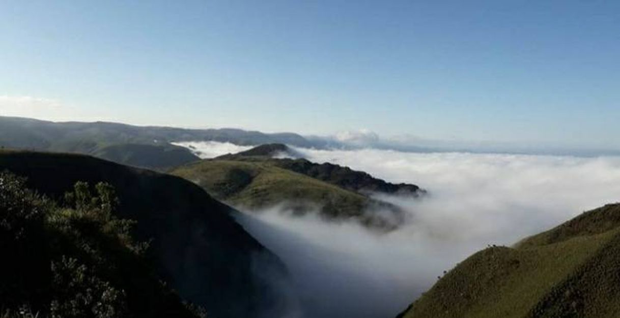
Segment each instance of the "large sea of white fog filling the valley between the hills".
[{"label": "large sea of white fog filling the valley between the hills", "polygon": [[618,157],[296,150],[428,190],[424,199],[383,197],[412,216],[388,234],[276,207],[239,217],[290,269],[300,317],[394,317],[487,244],[511,245],[620,198]]}]

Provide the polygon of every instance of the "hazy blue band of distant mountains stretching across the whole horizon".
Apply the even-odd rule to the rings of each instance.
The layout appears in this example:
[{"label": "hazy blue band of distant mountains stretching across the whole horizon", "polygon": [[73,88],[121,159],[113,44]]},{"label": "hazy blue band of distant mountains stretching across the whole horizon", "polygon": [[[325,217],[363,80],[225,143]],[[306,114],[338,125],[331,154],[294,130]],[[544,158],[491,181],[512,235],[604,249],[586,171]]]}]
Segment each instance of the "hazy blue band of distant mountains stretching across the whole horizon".
[{"label": "hazy blue band of distant mountains stretching across the whole horizon", "polygon": [[[402,152],[472,152],[523,153],[541,155],[620,155],[619,150],[579,149],[480,142],[423,140],[415,137],[377,139],[371,142],[340,140],[330,136],[302,136],[292,132],[267,134],[242,129],[185,129],[158,126],[131,126],[115,122],[51,122],[29,118],[0,116],[0,147],[27,150],[74,152],[94,155],[125,165],[166,171],[197,157],[187,149],[170,144],[184,141],[231,142],[237,145],[287,144],[317,149],[376,148]],[[151,145],[144,148],[136,145]],[[115,148],[123,147],[135,155],[118,156]],[[174,151],[171,151],[174,150]],[[143,155],[144,154],[144,155]],[[142,158],[148,155],[150,159]],[[190,160],[191,158],[191,160]],[[120,161],[119,161],[120,160]]]}]

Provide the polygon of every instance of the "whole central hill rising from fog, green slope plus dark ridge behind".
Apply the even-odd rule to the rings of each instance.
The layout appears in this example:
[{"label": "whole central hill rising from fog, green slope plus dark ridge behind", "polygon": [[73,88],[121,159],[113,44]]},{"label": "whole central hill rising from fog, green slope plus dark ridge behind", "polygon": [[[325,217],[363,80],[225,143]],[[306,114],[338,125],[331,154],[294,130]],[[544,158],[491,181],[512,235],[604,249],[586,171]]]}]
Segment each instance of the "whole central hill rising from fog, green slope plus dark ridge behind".
[{"label": "whole central hill rising from fog, green slope plus dark ridge behind", "polygon": [[389,184],[347,167],[272,158],[287,152],[290,148],[285,145],[261,145],[189,163],[170,173],[193,181],[217,199],[242,210],[282,205],[299,215],[318,211],[330,220],[355,218],[363,225],[383,230],[400,225],[405,213],[396,205],[373,199],[366,191],[406,192],[412,196],[421,193],[417,186]]}]

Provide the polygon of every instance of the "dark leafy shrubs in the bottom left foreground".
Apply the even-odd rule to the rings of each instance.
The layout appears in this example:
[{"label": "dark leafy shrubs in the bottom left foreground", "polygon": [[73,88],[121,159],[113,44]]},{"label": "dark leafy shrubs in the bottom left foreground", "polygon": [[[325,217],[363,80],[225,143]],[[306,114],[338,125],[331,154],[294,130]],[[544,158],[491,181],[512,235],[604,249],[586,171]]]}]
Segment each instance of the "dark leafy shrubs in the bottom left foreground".
[{"label": "dark leafy shrubs in the bottom left foreground", "polygon": [[[0,307],[5,316],[196,317],[163,285],[113,215],[113,187],[76,183],[64,204],[0,173]],[[36,313],[36,314],[35,314]]]}]

